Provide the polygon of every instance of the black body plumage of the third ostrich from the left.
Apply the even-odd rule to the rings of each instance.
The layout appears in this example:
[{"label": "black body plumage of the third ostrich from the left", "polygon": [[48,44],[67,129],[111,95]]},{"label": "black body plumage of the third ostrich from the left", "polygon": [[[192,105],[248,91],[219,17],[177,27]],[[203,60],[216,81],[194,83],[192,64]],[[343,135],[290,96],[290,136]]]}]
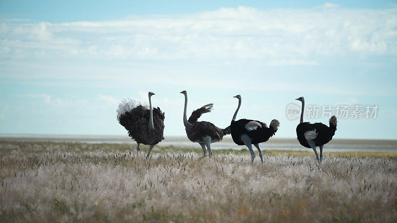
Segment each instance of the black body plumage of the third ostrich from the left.
[{"label": "black body plumage of the third ostrich from the left", "polygon": [[247,123],[251,121],[256,121],[256,120],[245,119],[245,118],[237,121],[232,120],[232,122],[230,123],[230,133],[232,135],[234,143],[240,146],[244,145],[244,142],[241,141],[242,134],[247,134],[248,137],[250,137],[252,144],[266,142],[277,131],[277,129],[274,129],[273,126],[271,125],[270,127],[266,127],[266,124],[261,121],[256,121],[256,122],[259,122],[262,125],[262,127],[258,127],[255,130],[249,131],[245,126]]}]

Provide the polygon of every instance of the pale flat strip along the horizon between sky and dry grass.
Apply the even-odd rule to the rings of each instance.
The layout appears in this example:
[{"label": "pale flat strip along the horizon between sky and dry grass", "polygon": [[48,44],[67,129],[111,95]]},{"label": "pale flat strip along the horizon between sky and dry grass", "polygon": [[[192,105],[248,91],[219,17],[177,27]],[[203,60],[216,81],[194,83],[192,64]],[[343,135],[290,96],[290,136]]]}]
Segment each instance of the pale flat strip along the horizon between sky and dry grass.
[{"label": "pale flat strip along the horizon between sky and dry grass", "polygon": [[[80,143],[134,143],[128,136],[113,135],[36,135],[36,134],[0,134],[0,140],[80,142]],[[166,136],[159,146],[176,146],[201,148],[198,143],[192,143],[187,137]],[[270,138],[260,144],[262,150],[310,150],[301,146],[297,139]],[[225,137],[222,142],[211,144],[211,149],[247,148],[234,144],[231,137]],[[397,152],[397,140],[360,140],[332,139],[324,147],[327,151],[362,151],[362,152]],[[256,150],[256,148],[254,148]]]}]

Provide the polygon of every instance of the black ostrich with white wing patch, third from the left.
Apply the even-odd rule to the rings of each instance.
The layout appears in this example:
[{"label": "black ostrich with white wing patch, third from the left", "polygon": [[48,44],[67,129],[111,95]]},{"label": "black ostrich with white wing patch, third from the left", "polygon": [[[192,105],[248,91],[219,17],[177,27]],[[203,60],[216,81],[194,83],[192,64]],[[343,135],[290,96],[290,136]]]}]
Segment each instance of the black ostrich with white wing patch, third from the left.
[{"label": "black ostrich with white wing patch, third from the left", "polygon": [[241,106],[241,96],[236,95],[233,98],[239,100],[239,105],[236,112],[234,112],[232,122],[230,123],[230,132],[234,143],[239,146],[246,145],[251,153],[251,162],[254,163],[255,152],[252,149],[252,144],[257,147],[259,151],[259,157],[261,157],[261,162],[264,162],[264,155],[259,147],[259,143],[266,142],[270,137],[272,137],[280,126],[280,122],[277,119],[273,119],[270,122],[270,127],[267,127],[266,123],[251,119],[240,119],[236,120],[237,112]]}]

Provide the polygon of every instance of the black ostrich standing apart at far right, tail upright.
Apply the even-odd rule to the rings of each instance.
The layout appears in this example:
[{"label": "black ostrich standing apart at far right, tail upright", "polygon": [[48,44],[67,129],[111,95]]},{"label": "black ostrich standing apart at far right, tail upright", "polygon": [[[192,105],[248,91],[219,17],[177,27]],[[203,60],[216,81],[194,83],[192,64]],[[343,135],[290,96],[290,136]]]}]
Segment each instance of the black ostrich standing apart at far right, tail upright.
[{"label": "black ostrich standing apart at far right, tail upright", "polygon": [[[324,144],[331,141],[332,136],[336,131],[336,117],[333,115],[330,118],[330,127],[327,125],[316,122],[311,124],[309,122],[303,122],[303,111],[305,109],[305,99],[303,97],[297,98],[295,100],[302,102],[302,112],[301,112],[301,121],[296,126],[296,135],[298,136],[299,143],[306,147],[312,148],[314,153],[316,154],[316,159],[319,163],[323,162],[323,148]],[[316,146],[320,147],[320,158],[317,153]]]}]

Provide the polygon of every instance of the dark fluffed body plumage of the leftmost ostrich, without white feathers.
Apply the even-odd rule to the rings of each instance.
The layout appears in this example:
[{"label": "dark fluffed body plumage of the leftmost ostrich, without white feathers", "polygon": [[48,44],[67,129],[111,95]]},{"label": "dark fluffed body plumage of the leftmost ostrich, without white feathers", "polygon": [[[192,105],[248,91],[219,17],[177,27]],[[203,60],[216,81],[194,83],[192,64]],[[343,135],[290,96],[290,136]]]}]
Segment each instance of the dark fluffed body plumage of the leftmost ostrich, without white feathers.
[{"label": "dark fluffed body plumage of the leftmost ostrich, without white feathers", "polygon": [[164,112],[160,108],[153,108],[154,129],[148,127],[150,111],[147,107],[138,105],[130,111],[122,113],[119,123],[123,125],[128,135],[137,143],[155,145],[164,139]]}]

